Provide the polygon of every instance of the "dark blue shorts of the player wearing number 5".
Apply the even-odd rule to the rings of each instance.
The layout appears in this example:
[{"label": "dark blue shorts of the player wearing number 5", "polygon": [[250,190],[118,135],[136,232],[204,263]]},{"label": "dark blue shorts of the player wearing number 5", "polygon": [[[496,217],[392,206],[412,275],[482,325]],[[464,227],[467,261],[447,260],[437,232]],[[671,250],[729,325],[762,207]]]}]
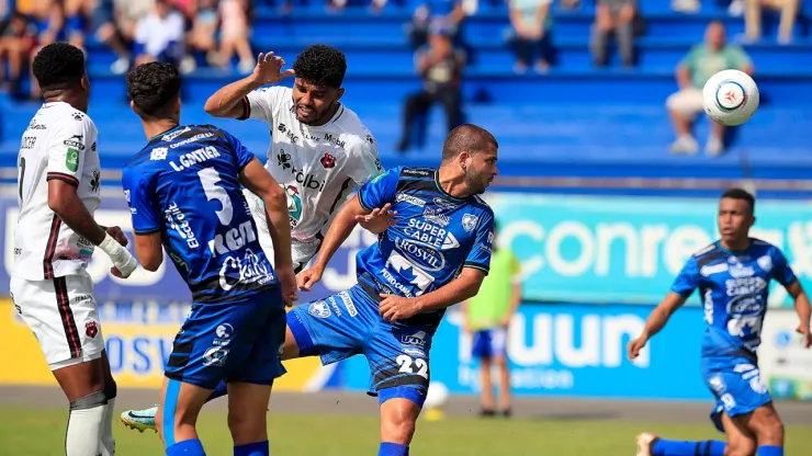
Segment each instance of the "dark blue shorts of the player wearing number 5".
[{"label": "dark blue shorts of the player wearing number 5", "polygon": [[222,380],[271,385],[285,374],[284,316],[279,287],[228,303],[195,303],[165,375],[207,389]]}]

